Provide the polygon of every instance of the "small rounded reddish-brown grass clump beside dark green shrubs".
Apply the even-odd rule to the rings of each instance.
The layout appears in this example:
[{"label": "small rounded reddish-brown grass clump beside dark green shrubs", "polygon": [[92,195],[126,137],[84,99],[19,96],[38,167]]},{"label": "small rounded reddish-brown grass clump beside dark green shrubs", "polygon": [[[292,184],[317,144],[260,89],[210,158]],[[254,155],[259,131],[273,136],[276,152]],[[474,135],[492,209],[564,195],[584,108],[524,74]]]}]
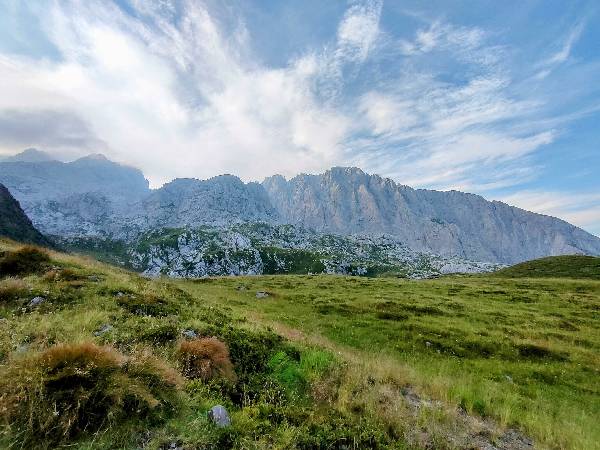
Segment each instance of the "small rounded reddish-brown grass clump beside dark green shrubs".
[{"label": "small rounded reddish-brown grass clump beside dark green shrubs", "polygon": [[233,364],[229,359],[229,349],[217,338],[183,341],[179,344],[177,353],[183,364],[183,374],[188,378],[208,381],[221,377],[236,380]]}]

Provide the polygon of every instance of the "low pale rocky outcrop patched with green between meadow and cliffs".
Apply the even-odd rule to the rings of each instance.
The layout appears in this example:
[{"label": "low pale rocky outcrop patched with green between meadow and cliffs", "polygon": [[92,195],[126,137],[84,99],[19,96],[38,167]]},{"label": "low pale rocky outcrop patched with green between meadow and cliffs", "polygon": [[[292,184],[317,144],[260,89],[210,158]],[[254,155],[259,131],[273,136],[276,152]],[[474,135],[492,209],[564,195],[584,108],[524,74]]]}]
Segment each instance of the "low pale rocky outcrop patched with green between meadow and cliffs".
[{"label": "low pale rocky outcrop patched with green between meadow and cliffs", "polygon": [[[115,254],[89,239],[61,244],[96,255]],[[90,245],[91,244],[91,245]],[[114,242],[108,245],[115,247]],[[107,259],[148,276],[199,278],[217,275],[282,273],[390,274],[428,278],[445,273],[498,269],[492,263],[416,252],[392,236],[341,236],[292,225],[243,223],[230,227],[155,229],[116,246],[127,248]]]}]

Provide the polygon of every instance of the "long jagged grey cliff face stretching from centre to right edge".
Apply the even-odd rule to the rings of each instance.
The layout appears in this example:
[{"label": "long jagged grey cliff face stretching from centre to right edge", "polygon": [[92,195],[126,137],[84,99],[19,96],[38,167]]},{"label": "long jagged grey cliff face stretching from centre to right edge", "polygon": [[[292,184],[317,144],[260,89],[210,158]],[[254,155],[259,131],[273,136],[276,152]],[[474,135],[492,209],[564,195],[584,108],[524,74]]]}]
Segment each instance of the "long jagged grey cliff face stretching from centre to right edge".
[{"label": "long jagged grey cliff face stretching from centre to right edge", "polygon": [[263,186],[285,223],[341,234],[386,233],[409,247],[477,261],[600,254],[600,239],[541,214],[457,191],[415,190],[356,168]]}]

